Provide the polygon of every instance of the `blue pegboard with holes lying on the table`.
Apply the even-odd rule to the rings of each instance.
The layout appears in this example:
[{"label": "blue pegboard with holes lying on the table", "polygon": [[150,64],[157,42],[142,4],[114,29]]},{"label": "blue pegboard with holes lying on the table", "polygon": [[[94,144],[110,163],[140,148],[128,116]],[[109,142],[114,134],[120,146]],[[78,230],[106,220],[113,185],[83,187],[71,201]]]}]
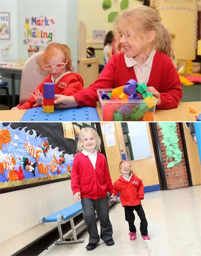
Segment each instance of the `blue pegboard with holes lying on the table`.
[{"label": "blue pegboard with holes lying on the table", "polygon": [[82,107],[71,109],[55,109],[54,113],[44,113],[42,107],[27,109],[20,121],[32,122],[96,122],[100,121],[95,108]]}]

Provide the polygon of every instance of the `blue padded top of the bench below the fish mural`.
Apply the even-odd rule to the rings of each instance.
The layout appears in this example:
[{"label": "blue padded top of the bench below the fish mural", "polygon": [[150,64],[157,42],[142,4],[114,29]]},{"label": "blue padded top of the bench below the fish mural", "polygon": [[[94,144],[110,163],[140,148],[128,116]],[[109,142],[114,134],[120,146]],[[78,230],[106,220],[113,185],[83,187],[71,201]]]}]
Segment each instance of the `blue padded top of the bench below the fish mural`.
[{"label": "blue padded top of the bench below the fish mural", "polygon": [[57,221],[57,215],[63,215],[64,220],[66,221],[79,214],[80,212],[82,212],[81,201],[45,217],[45,220],[46,222]]}]

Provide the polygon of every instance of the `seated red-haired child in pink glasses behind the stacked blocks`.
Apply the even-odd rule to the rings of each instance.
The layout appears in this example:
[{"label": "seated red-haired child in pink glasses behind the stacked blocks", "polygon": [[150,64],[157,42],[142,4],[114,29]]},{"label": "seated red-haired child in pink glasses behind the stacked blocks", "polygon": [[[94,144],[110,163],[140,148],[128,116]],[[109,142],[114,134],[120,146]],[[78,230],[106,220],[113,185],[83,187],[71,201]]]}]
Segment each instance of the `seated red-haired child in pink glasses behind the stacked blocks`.
[{"label": "seated red-haired child in pink glasses behind the stacked blocks", "polygon": [[12,110],[30,109],[40,106],[43,101],[43,84],[55,83],[55,94],[72,95],[83,89],[82,77],[71,72],[71,53],[67,45],[52,43],[44,53],[37,58],[37,64],[43,70],[49,71],[49,76],[31,94],[31,98],[24,104],[19,104]]}]

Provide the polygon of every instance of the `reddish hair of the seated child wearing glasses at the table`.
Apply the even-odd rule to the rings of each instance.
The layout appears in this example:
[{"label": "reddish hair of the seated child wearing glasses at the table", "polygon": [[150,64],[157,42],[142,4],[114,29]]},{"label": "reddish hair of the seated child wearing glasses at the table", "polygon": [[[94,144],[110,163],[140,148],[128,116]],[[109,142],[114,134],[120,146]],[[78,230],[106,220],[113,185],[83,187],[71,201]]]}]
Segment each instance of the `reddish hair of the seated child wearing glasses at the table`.
[{"label": "reddish hair of the seated child wearing glasses at the table", "polygon": [[39,65],[41,69],[43,69],[43,66],[48,64],[50,59],[55,56],[59,51],[61,51],[64,54],[64,63],[68,61],[68,63],[65,66],[65,72],[71,71],[71,53],[70,49],[67,45],[60,44],[60,43],[52,43],[49,44],[43,54],[41,54],[37,60],[36,63]]}]

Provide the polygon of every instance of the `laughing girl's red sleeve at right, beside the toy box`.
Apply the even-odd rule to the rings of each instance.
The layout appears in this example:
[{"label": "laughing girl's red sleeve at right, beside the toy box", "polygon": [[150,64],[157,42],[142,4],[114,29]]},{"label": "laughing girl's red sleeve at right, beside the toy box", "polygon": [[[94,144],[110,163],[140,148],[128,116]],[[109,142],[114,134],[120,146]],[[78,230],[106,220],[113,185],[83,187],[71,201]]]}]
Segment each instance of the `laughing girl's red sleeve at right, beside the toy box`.
[{"label": "laughing girl's red sleeve at right, beside the toy box", "polygon": [[170,59],[165,85],[165,92],[160,93],[160,105],[156,105],[158,109],[173,109],[178,107],[183,97],[182,85],[177,70]]}]

